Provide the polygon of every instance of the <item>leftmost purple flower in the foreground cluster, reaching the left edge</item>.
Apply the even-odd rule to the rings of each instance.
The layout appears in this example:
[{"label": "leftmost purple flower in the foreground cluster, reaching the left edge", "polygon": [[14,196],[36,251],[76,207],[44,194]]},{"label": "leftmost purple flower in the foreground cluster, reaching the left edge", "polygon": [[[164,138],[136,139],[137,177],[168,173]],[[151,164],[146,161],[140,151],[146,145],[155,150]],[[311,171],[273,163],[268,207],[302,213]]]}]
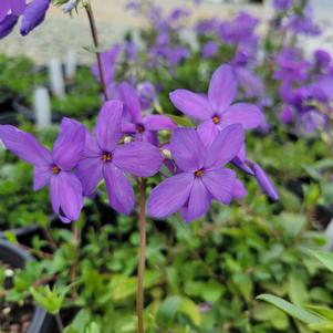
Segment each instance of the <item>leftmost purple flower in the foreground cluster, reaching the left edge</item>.
[{"label": "leftmost purple flower in the foreground cluster, reaching the left edge", "polygon": [[75,121],[63,118],[53,153],[31,134],[11,125],[0,126],[4,146],[34,167],[33,190],[50,187],[53,211],[63,222],[77,220],[83,207],[82,185],[72,170],[82,158],[85,129]]}]

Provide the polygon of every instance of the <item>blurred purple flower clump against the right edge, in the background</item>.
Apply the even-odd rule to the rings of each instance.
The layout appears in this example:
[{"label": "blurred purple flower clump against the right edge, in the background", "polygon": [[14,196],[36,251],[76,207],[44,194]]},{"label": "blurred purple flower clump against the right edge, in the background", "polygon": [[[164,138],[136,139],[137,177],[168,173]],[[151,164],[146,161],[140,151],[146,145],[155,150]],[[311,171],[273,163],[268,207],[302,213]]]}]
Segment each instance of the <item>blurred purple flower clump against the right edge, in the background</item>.
[{"label": "blurred purple flower clump against the right edge, in the background", "polygon": [[277,58],[274,79],[280,81],[283,124],[296,124],[301,134],[325,128],[333,96],[333,62],[327,52],[318,50],[308,61],[301,50],[283,49]]}]

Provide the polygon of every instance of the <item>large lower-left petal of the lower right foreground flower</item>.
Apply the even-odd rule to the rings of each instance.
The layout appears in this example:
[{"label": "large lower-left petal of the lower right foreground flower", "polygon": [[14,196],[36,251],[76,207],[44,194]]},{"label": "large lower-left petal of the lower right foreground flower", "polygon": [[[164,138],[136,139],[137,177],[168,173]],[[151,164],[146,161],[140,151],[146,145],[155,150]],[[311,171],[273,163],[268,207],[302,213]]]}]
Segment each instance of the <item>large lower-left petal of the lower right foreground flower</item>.
[{"label": "large lower-left petal of the lower right foreground flower", "polygon": [[148,199],[148,215],[166,218],[178,211],[188,200],[194,184],[192,174],[178,174],[155,187]]}]

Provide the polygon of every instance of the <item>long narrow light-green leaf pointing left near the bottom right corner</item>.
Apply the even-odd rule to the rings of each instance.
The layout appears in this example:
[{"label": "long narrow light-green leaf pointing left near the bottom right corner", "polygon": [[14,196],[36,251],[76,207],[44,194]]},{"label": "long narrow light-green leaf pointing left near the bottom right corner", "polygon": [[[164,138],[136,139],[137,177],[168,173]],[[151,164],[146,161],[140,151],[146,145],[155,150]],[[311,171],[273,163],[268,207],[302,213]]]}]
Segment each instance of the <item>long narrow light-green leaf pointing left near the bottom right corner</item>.
[{"label": "long narrow light-green leaf pointing left near the bottom right corner", "polygon": [[270,294],[261,294],[257,298],[258,300],[266,301],[268,303],[273,304],[274,306],[283,310],[289,315],[304,322],[306,324],[312,324],[320,322],[320,318],[312,314],[311,312],[302,309],[301,306],[296,306],[290,302],[284,301],[283,299],[277,298]]}]

